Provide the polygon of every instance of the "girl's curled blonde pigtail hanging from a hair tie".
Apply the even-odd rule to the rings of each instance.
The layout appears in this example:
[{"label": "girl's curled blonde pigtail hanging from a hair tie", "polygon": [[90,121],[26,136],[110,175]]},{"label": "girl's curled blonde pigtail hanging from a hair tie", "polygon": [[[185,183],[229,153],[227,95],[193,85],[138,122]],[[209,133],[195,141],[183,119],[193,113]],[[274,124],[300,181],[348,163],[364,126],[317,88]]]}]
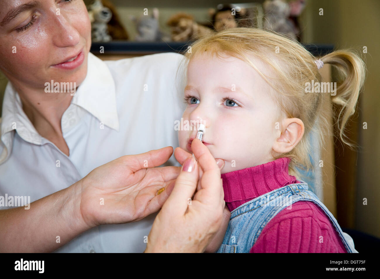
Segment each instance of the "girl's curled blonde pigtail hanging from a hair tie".
[{"label": "girl's curled blonde pigtail hanging from a hair tie", "polygon": [[355,106],[358,102],[359,92],[363,87],[366,66],[364,61],[351,50],[336,50],[321,58],[323,63],[334,65],[342,79],[337,82],[336,95],[331,94],[331,102],[342,106],[337,117],[339,127],[339,137],[342,142],[353,147],[347,142],[344,128],[348,118],[355,113]]}]

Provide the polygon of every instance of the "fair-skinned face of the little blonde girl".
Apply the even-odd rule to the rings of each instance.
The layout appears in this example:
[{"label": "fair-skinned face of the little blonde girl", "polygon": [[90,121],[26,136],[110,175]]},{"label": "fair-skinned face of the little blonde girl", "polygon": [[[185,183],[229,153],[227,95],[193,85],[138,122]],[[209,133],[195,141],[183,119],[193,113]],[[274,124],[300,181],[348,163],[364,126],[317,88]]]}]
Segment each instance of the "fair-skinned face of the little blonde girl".
[{"label": "fair-skinned face of the little blonde girl", "polygon": [[[260,60],[251,59],[261,70],[265,68]],[[225,160],[222,173],[272,161],[279,110],[269,90],[264,79],[238,58],[196,55],[188,65],[187,108],[182,117],[190,125],[187,131],[179,130],[180,147],[192,153],[197,133],[192,125],[202,123],[203,143],[214,158]]]}]

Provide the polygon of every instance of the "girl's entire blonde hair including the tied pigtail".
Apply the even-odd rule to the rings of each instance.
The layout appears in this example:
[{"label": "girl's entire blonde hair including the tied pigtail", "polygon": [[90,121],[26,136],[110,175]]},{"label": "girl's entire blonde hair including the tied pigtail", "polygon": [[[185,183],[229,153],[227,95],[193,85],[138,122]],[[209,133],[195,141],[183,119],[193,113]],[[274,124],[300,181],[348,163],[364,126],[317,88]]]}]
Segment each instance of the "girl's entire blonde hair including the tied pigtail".
[{"label": "girl's entire blonde hair including the tied pigtail", "polygon": [[[217,57],[230,55],[240,58],[251,65],[274,89],[274,92],[269,94],[273,95],[279,107],[280,111],[275,118],[279,124],[283,116],[302,120],[304,136],[300,142],[288,153],[272,154],[274,159],[291,159],[288,168],[290,175],[303,179],[303,175],[296,168],[306,172],[315,169],[309,157],[313,154],[312,138],[309,134],[313,133],[314,140],[319,144],[318,150],[321,150],[326,136],[332,132],[325,108],[326,101],[342,106],[336,119],[339,137],[351,148],[354,146],[346,140],[344,128],[348,118],[355,112],[366,68],[363,60],[352,50],[336,50],[321,58],[323,63],[336,66],[343,77],[337,82],[335,96],[331,93],[306,92],[307,82],[322,82],[321,74],[314,62],[316,58],[300,43],[278,33],[252,27],[226,29],[195,41],[184,53],[185,61],[188,63],[192,57],[205,51]],[[261,73],[248,55],[253,55],[268,65],[270,76]],[[286,127],[280,126],[282,132],[284,128]]]}]

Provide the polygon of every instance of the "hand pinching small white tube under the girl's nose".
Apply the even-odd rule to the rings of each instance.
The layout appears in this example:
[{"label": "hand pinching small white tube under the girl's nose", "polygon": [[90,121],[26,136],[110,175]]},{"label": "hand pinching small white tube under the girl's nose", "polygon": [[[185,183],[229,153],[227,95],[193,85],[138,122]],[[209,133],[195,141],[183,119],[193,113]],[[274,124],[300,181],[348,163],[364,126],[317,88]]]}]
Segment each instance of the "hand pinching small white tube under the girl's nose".
[{"label": "hand pinching small white tube under the girl's nose", "polygon": [[195,159],[189,156],[156,216],[145,252],[204,252],[222,225],[225,201],[220,168],[200,140],[193,140],[192,150],[203,170],[201,189],[191,199],[199,170]]}]

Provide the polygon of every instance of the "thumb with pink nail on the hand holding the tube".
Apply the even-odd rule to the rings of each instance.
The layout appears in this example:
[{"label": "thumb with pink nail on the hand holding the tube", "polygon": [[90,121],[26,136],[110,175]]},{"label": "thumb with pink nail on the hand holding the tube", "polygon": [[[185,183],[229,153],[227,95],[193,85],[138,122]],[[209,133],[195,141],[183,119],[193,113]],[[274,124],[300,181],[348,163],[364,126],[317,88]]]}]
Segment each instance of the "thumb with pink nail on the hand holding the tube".
[{"label": "thumb with pink nail on the hand holding the tube", "polygon": [[189,156],[177,177],[176,184],[165,205],[171,214],[185,214],[188,201],[193,196],[198,182],[198,164],[193,156]]}]

